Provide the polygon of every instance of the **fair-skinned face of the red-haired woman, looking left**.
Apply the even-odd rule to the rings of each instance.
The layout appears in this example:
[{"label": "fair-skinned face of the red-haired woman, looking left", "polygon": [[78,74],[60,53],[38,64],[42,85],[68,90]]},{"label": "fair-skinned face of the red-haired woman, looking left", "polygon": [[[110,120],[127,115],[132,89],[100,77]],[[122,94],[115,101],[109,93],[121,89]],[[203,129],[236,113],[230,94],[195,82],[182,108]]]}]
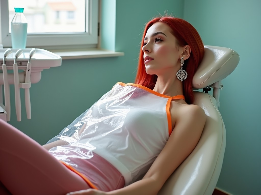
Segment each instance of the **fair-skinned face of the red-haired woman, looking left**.
[{"label": "fair-skinned face of the red-haired woman, looking left", "polygon": [[148,29],[142,50],[147,74],[173,74],[180,69],[182,51],[167,24],[156,22]]}]

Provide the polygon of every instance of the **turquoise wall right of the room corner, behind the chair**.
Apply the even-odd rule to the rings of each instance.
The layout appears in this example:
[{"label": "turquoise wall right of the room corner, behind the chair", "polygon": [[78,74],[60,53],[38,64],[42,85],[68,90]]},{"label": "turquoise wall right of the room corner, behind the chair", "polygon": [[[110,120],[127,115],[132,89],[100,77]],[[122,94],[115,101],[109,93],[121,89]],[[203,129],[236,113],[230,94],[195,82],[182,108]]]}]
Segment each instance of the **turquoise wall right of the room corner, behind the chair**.
[{"label": "turquoise wall right of the room corner, behind the chair", "polygon": [[240,54],[238,67],[222,82],[219,109],[227,145],[217,187],[234,195],[260,194],[260,8],[259,0],[184,1],[184,19],[205,45]]}]

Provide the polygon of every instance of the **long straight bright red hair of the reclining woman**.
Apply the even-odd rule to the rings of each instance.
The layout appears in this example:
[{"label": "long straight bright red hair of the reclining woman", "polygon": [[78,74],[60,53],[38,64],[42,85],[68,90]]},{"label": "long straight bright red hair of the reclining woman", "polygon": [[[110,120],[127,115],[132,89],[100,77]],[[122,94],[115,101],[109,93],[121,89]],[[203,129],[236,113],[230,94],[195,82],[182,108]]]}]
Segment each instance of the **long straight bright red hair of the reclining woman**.
[{"label": "long straight bright red hair of the reclining woman", "polygon": [[[190,57],[184,61],[183,69],[188,73],[188,77],[183,82],[183,93],[188,104],[193,103],[194,95],[192,91],[193,76],[204,56],[204,45],[197,30],[187,21],[181,18],[174,17],[158,17],[154,18],[146,24],[143,37],[141,40],[140,55],[138,62],[138,70],[135,79],[136,84],[140,84],[147,88],[153,89],[157,81],[157,75],[149,75],[146,73],[143,60],[143,42],[147,30],[156,22],[163,22],[172,29],[172,34],[177,39],[177,44],[180,47],[189,45],[191,47]],[[176,73],[173,73],[176,76]]]}]

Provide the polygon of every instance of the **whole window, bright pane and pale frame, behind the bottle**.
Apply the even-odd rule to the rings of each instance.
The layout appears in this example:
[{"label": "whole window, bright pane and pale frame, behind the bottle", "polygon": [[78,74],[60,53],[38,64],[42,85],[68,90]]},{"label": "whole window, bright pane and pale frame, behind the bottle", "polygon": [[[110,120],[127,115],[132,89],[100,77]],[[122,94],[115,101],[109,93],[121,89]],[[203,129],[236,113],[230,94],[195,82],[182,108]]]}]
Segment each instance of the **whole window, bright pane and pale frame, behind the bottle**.
[{"label": "whole window, bright pane and pale frame, behind the bottle", "polygon": [[10,24],[15,15],[14,7],[22,7],[28,23],[26,47],[97,47],[98,1],[0,0],[0,43],[11,47]]}]

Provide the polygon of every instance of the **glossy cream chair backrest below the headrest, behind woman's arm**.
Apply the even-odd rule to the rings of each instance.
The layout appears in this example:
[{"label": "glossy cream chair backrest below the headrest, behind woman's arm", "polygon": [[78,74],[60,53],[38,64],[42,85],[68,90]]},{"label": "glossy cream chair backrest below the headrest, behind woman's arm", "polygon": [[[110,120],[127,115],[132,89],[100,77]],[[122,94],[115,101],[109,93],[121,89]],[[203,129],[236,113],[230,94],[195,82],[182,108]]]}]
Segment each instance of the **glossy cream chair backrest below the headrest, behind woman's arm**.
[{"label": "glossy cream chair backrest below the headrest, behind woman's arm", "polygon": [[211,195],[220,175],[226,146],[226,129],[213,96],[194,92],[194,104],[207,119],[201,138],[185,161],[170,176],[158,195]]}]

